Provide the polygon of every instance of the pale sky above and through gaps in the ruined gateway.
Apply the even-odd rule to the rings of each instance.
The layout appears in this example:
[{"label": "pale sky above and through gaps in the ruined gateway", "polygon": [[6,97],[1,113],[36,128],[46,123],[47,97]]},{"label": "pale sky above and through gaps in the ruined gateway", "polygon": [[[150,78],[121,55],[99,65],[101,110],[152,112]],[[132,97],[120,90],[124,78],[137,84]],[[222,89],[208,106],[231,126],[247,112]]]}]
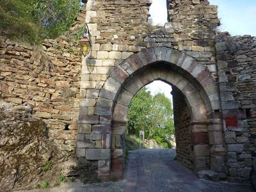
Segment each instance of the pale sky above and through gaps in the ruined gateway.
[{"label": "pale sky above and through gaps in the ruined gateway", "polygon": [[[256,0],[209,0],[210,4],[218,5],[218,16],[221,20],[221,31],[231,35],[256,36]],[[166,0],[153,0],[150,15],[155,25],[167,22]],[[153,95],[164,93],[172,99],[170,85],[154,81],[147,85]]]}]

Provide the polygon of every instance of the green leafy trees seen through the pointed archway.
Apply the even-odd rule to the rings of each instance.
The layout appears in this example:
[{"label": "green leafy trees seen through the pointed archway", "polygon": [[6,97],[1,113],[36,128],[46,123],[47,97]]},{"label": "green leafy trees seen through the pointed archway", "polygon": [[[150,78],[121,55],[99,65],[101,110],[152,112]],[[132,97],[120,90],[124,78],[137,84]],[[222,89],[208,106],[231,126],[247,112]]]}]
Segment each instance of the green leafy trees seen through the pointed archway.
[{"label": "green leafy trees seen through the pointed archway", "polygon": [[129,105],[127,118],[128,134],[139,136],[143,130],[145,138],[170,147],[168,140],[174,134],[173,109],[172,102],[163,93],[153,97],[147,88],[141,88]]}]

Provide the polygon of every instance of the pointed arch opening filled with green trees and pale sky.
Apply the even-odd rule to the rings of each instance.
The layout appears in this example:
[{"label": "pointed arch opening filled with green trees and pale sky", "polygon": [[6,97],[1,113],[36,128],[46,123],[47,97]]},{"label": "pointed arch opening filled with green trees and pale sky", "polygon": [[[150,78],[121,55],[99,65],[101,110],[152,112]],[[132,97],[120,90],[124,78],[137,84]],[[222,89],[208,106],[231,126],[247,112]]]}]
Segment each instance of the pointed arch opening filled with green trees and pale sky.
[{"label": "pointed arch opening filled with green trees and pale sky", "polygon": [[134,95],[127,113],[127,150],[175,147],[171,92],[170,84],[158,80],[143,86]]}]

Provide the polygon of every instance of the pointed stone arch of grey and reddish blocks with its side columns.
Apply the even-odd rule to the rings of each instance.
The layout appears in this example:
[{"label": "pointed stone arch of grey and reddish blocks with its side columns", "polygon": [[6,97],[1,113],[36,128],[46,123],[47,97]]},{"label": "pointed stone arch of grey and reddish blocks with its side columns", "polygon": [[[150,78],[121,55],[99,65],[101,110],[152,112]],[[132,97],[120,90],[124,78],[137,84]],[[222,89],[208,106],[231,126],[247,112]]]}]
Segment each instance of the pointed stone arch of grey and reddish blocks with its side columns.
[{"label": "pointed stone arch of grey and reddish blocks with its side columns", "polygon": [[175,86],[189,106],[195,172],[214,170],[223,144],[218,86],[207,68],[191,56],[167,47],[155,47],[133,54],[112,67],[100,89],[95,115],[102,119],[98,126],[111,130],[111,171],[122,175],[122,143],[129,102],[141,87],[157,79]]}]

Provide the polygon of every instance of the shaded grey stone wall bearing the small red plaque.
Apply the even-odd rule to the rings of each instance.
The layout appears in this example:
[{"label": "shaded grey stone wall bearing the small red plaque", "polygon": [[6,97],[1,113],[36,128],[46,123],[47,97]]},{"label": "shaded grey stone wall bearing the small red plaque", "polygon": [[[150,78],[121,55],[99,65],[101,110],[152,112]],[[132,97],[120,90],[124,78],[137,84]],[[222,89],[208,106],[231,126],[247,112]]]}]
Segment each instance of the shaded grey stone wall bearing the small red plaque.
[{"label": "shaded grey stone wall bearing the small red plaque", "polygon": [[256,38],[220,33],[216,51],[228,179],[244,182],[256,158]]}]

